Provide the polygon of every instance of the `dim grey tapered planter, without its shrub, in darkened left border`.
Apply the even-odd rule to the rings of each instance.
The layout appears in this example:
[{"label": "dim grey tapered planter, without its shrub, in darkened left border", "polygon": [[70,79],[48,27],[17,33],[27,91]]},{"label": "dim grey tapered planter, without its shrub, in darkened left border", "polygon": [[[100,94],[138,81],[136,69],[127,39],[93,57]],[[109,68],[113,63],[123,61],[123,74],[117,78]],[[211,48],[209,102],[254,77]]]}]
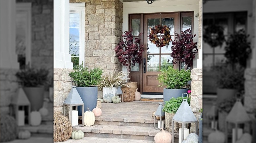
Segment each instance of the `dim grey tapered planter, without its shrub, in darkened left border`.
[{"label": "dim grey tapered planter, without its shrub, in darkened left border", "polygon": [[44,87],[23,87],[23,89],[31,104],[31,111],[38,111],[43,107]]}]

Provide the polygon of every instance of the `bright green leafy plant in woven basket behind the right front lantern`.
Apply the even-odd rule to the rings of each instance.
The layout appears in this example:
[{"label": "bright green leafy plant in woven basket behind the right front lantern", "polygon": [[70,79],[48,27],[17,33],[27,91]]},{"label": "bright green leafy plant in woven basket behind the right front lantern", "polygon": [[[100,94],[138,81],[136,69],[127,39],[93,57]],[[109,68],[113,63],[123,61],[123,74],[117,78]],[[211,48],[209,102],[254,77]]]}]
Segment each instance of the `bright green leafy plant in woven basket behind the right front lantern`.
[{"label": "bright green leafy plant in woven basket behind the right front lantern", "polygon": [[[186,92],[185,92],[186,93]],[[183,97],[184,99],[187,99],[187,102],[190,106],[190,97]],[[163,112],[164,112],[164,125],[165,129],[167,131],[172,131],[172,118],[174,117],[175,113],[181,106],[183,99],[182,97],[174,98],[172,97],[170,100],[165,101],[163,106]],[[181,123],[175,122],[175,128],[174,132],[179,133],[179,128],[181,128]]]}]

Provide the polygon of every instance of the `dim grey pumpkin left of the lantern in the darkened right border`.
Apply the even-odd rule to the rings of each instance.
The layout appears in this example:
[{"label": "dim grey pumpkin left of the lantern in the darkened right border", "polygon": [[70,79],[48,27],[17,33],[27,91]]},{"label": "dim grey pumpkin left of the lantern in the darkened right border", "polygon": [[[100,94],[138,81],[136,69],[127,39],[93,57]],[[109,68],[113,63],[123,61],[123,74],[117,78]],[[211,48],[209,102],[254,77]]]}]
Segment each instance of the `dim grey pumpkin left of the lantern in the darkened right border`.
[{"label": "dim grey pumpkin left of the lantern in the darkened right border", "polygon": [[208,135],[209,143],[224,143],[225,142],[225,134],[221,131],[214,131]]}]

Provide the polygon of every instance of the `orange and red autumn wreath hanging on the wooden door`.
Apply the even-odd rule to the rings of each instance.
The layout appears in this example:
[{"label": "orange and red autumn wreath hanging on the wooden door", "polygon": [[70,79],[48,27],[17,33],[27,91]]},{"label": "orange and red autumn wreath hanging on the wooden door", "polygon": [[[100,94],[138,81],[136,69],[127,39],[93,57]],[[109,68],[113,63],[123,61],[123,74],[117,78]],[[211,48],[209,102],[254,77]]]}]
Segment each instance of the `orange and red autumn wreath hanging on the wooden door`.
[{"label": "orange and red autumn wreath hanging on the wooden door", "polygon": [[[151,43],[155,44],[158,48],[169,45],[171,39],[170,28],[167,25],[156,25],[155,27],[150,27],[149,39]],[[163,34],[162,38],[158,38],[158,34]]]}]

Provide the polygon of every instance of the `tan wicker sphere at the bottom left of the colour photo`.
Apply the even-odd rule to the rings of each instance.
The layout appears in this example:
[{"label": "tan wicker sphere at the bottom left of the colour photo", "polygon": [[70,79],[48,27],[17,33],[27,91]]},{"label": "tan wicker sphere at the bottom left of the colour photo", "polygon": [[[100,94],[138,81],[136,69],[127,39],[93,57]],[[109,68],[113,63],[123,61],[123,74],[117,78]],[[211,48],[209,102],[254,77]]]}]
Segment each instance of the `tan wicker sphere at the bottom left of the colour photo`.
[{"label": "tan wicker sphere at the bottom left of the colour photo", "polygon": [[61,116],[60,113],[53,115],[53,142],[66,141],[71,137],[72,125],[67,117]]}]

